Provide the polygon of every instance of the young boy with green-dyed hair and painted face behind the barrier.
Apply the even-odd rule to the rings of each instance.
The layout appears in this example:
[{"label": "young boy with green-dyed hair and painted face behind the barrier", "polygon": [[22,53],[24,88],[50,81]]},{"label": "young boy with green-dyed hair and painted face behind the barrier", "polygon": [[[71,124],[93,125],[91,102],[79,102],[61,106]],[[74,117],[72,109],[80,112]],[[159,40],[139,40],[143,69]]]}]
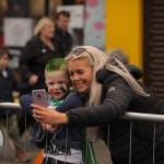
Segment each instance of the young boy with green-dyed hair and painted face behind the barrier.
[{"label": "young boy with green-dyed hair and painted face behind the barrier", "polygon": [[[61,113],[82,106],[81,99],[73,91],[70,91],[71,83],[65,59],[55,58],[46,65],[45,82],[49,92],[48,106]],[[26,105],[30,101],[32,96],[24,95],[20,98],[20,104],[25,112],[32,115],[32,107]],[[82,162],[82,139],[83,129],[67,126],[40,126],[36,121],[30,143],[44,148],[43,164],[80,164]]]}]

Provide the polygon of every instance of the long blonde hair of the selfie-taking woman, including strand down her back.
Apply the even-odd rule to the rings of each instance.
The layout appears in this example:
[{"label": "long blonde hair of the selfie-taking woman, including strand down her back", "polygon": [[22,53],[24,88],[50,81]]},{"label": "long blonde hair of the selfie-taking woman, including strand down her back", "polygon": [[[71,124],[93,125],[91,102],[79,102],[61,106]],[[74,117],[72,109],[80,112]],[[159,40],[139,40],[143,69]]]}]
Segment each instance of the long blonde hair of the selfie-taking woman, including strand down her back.
[{"label": "long blonde hair of the selfie-taking woman, including strand down her back", "polygon": [[[129,73],[127,68],[124,66],[129,63],[129,59],[125,56],[125,54],[119,51],[121,55],[120,56],[118,51],[113,50],[108,55],[105,55],[103,51],[92,46],[81,46],[77,47],[75,49],[78,48],[84,48],[85,50],[78,56],[75,56],[73,52],[70,52],[66,57],[66,61],[69,62],[70,60],[87,59],[89,65],[93,69],[93,80],[90,87],[90,97],[89,102],[86,103],[86,107],[101,104],[102,84],[96,81],[96,72],[102,69],[107,69],[120,74],[128,82],[128,84],[134,92],[137,92],[141,96],[149,96],[143,91],[143,89],[136,82],[136,80]],[[90,140],[97,139],[98,132],[99,132],[98,127],[86,128],[86,137]]]}]

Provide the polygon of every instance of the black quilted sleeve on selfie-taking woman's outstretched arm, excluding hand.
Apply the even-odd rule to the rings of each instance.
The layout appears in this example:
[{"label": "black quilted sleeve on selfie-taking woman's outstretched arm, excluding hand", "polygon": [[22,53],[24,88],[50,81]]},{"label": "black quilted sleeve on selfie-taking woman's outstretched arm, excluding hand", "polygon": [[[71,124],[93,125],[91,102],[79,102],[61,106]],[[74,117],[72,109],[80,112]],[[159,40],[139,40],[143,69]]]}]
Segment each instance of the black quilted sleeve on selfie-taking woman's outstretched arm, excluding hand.
[{"label": "black quilted sleeve on selfie-taking woman's outstretched arm, excluding hand", "polygon": [[116,121],[128,109],[133,91],[119,78],[107,87],[107,94],[101,105],[70,110],[67,116],[71,126],[104,126]]}]

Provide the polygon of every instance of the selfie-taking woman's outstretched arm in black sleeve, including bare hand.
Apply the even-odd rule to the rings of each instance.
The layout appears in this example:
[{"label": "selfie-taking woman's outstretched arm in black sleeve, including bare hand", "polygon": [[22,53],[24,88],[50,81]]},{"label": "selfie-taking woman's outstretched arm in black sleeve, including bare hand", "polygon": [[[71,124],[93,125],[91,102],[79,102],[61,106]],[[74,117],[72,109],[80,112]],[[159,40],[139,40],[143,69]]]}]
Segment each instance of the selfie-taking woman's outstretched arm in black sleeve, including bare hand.
[{"label": "selfie-taking woman's outstretched arm in black sleeve, including bare hand", "polygon": [[[115,90],[110,90],[112,86]],[[42,122],[58,125],[69,124],[73,127],[102,126],[120,118],[127,110],[132,97],[132,90],[124,80],[115,81],[108,87],[108,93],[102,105],[80,107],[60,114],[33,105],[34,117]]]}]

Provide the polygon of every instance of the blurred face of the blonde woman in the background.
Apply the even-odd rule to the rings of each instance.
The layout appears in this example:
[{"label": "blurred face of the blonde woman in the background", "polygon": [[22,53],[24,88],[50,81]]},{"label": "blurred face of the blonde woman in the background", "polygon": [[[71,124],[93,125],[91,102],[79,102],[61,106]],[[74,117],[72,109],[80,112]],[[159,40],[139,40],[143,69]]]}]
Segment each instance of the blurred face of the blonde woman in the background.
[{"label": "blurred face of the blonde woman in the background", "polygon": [[45,37],[52,38],[55,34],[55,25],[54,23],[49,23],[45,25],[45,27],[42,30],[40,34]]}]

